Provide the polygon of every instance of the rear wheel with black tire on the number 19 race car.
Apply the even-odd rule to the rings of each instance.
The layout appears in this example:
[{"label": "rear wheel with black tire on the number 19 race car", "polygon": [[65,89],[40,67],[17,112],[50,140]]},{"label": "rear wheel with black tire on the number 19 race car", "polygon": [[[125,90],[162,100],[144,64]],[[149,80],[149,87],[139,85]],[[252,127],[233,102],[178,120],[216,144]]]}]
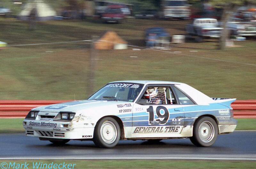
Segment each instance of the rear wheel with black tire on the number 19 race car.
[{"label": "rear wheel with black tire on the number 19 race car", "polygon": [[202,117],[196,121],[193,127],[193,136],[190,141],[198,147],[209,147],[216,141],[218,126],[214,119]]}]

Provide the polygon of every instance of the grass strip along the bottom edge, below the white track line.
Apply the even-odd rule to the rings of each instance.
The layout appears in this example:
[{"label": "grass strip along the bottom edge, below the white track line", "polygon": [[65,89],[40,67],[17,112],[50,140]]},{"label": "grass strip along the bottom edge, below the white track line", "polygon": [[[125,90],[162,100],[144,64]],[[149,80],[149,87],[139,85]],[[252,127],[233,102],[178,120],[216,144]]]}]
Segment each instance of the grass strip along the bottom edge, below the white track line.
[{"label": "grass strip along the bottom edge, below the white track line", "polygon": [[[0,160],[0,163],[7,162],[14,162],[14,160]],[[15,160],[18,163],[25,163],[27,162],[28,168],[32,169],[33,162],[39,163],[42,162],[44,164],[76,164],[74,165],[76,169],[153,169],[153,168],[166,168],[166,169],[254,169],[256,162],[251,161],[184,161],[184,160]]]}]

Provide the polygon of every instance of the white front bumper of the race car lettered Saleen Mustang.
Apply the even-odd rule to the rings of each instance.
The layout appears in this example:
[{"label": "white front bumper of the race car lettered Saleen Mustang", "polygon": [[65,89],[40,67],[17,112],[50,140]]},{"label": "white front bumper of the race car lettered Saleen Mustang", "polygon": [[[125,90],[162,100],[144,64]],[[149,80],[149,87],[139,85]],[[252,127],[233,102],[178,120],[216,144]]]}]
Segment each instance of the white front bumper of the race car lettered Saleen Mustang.
[{"label": "white front bumper of the race car lettered Saleen Mustang", "polygon": [[[50,123],[51,125],[46,125]],[[64,127],[68,125],[68,127]],[[48,127],[50,126],[50,127]],[[91,139],[94,127],[89,124],[73,124],[60,121],[24,120],[26,136],[52,139]]]}]

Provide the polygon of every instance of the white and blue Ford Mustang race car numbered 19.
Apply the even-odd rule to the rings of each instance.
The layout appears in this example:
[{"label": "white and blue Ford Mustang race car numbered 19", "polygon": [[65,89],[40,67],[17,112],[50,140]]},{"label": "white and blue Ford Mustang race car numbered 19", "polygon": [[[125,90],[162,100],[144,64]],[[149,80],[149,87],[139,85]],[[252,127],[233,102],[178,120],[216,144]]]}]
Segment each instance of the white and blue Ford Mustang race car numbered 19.
[{"label": "white and blue Ford Mustang race car numbered 19", "polygon": [[87,100],[34,108],[23,126],[27,136],[54,144],[92,140],[110,148],[119,140],[189,138],[208,147],[218,134],[235,130],[235,100],[213,99],[178,82],[115,81]]}]

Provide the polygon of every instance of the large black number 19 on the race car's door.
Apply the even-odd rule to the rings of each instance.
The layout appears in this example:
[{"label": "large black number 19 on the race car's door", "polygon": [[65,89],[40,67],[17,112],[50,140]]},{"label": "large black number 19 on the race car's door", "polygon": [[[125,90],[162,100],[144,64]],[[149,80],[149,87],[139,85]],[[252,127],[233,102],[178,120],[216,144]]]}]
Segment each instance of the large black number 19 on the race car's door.
[{"label": "large black number 19 on the race car's door", "polygon": [[[164,112],[160,112],[161,110],[163,110]],[[147,112],[149,113],[148,124],[150,124],[150,125],[154,121],[158,122],[160,125],[164,125],[167,123],[167,121],[169,119],[169,111],[164,106],[156,107],[156,116],[158,117],[158,119],[155,119],[153,106],[149,106],[149,108],[147,109]]]}]

